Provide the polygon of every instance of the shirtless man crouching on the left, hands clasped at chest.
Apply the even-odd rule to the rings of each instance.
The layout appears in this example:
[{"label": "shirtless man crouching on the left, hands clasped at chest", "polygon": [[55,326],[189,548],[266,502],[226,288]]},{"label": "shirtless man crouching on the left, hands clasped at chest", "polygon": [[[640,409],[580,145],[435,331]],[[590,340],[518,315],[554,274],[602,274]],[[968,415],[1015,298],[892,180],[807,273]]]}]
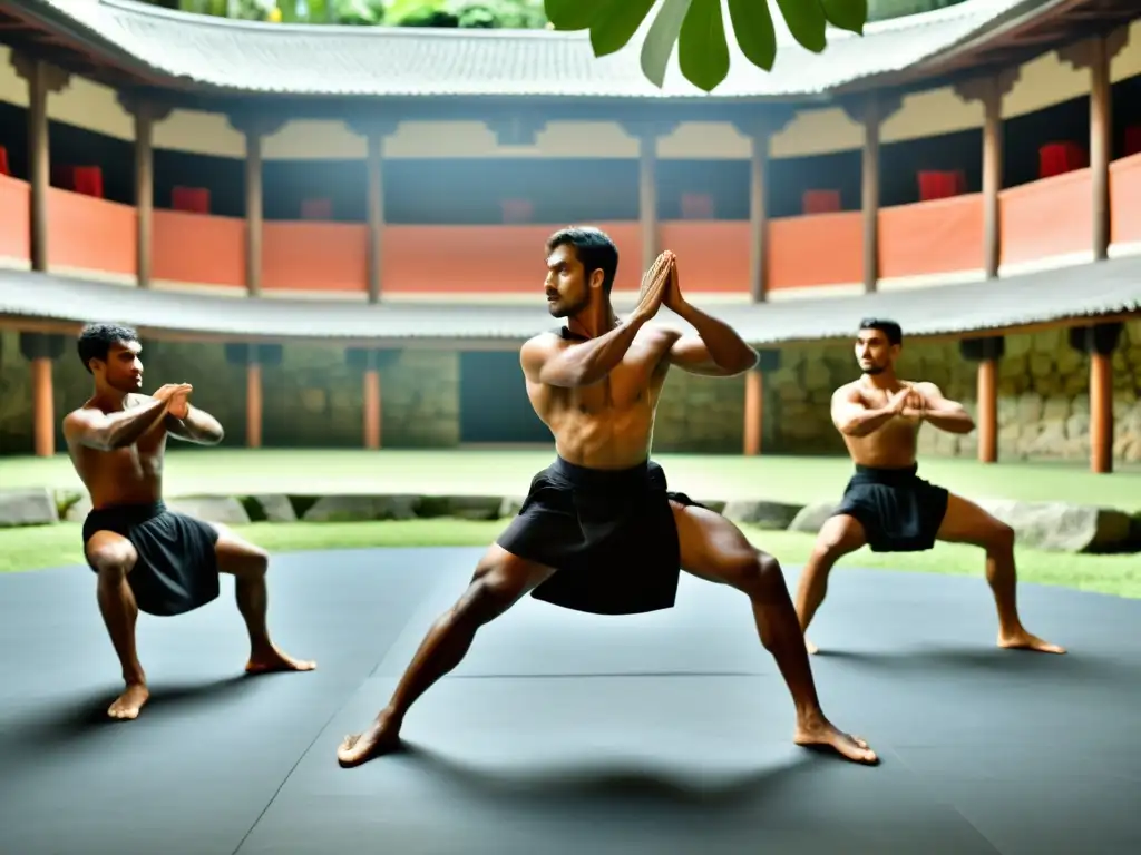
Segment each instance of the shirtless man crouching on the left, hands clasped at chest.
[{"label": "shirtless man crouching on the left, hands clasped at chest", "polygon": [[107,715],[137,718],[151,694],[135,649],[139,610],[167,617],[199,609],[218,596],[219,571],[235,578],[237,608],[250,633],[246,671],[313,670],[313,662],[291,659],[269,640],[266,553],[162,502],[167,437],[216,445],[221,425],[189,405],[188,383],[164,385],[153,396],[138,392],[141,347],[133,329],[90,324],[78,347],[95,377],[95,394],[64,418],[64,437],[91,494],[83,553],[97,573],[99,611],[127,684]]}]

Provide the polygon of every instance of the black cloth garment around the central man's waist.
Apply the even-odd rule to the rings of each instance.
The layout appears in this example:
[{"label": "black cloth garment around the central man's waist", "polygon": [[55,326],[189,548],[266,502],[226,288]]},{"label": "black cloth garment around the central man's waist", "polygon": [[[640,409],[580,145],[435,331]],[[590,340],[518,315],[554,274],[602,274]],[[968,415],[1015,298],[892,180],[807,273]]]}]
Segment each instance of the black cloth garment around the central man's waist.
[{"label": "black cloth garment around the central man's waist", "polygon": [[532,592],[536,600],[593,614],[670,609],[681,576],[671,499],[702,506],[670,492],[650,461],[597,470],[558,457],[532,479],[496,543],[557,571]]}]

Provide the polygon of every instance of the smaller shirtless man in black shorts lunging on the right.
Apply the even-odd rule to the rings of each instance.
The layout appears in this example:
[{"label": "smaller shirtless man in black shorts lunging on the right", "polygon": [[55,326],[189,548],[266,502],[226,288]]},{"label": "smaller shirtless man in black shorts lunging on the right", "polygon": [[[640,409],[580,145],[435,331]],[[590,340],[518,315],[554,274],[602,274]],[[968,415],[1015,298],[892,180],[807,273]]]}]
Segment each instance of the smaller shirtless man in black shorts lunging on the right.
[{"label": "smaller shirtless man in black shorts lunging on the right", "polygon": [[[974,421],[961,404],[947,400],[934,383],[896,376],[904,336],[893,320],[865,318],[856,336],[856,359],[864,373],[832,396],[832,421],[856,464],[840,506],[817,536],[796,592],[803,630],[824,602],[828,572],[861,546],[873,552],[919,552],[937,540],[986,549],[987,581],[998,609],[998,646],[1065,653],[1031,635],[1015,604],[1014,531],[1004,522],[942,487],[916,475],[920,426],[970,433]],[[809,652],[817,648],[806,640]]]}]

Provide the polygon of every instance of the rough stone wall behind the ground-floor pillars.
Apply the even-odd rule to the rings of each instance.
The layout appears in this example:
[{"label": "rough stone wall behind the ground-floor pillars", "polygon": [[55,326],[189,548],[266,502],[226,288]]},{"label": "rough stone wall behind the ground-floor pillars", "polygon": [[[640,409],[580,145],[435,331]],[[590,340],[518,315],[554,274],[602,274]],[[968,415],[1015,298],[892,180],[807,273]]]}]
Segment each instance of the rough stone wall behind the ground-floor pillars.
[{"label": "rough stone wall behind the ground-floor pillars", "polygon": [[[226,445],[245,442],[245,374],[220,344],[144,342],[147,389],[185,381],[194,401],[226,426]],[[460,442],[459,355],[406,350],[381,369],[383,445],[447,448]],[[900,373],[938,383],[974,412],[976,367],[955,343],[908,342]],[[856,376],[851,348],[790,348],[764,381],[766,453],[842,454],[828,416],[832,390]],[[1126,327],[1114,356],[1115,456],[1141,461],[1141,321]],[[267,447],[359,448],[362,380],[337,347],[284,348],[282,364],[262,369]],[[504,382],[518,382],[512,375]],[[1010,336],[1000,364],[1001,459],[1089,456],[1089,361],[1065,332]],[[68,349],[55,365],[57,422],[90,393],[91,380]],[[744,378],[714,380],[672,370],[658,407],[657,451],[739,454]],[[924,427],[924,454],[976,454],[977,433],[955,437]],[[0,333],[0,454],[32,451],[32,399],[18,336]]]}]

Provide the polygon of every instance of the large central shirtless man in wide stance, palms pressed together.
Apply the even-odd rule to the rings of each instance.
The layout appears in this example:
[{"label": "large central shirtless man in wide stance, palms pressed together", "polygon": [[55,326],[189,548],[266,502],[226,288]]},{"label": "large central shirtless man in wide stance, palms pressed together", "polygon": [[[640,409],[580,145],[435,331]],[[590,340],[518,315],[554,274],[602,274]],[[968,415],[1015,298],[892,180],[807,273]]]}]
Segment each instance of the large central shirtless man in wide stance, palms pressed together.
[{"label": "large central shirtless man in wide stance, palms pressed together", "polygon": [[[547,252],[548,307],[568,325],[529,340],[520,361],[535,412],[555,434],[557,458],[534,477],[519,515],[431,627],[389,705],[369,730],[340,744],[339,762],[356,766],[395,749],[408,708],[460,663],[480,626],[527,593],[601,614],[669,609],[680,567],[752,601],[761,642],[796,708],[794,741],[875,763],[866,742],[836,730],[820,710],[780,567],[723,516],[670,492],[662,467],[649,461],[670,366],[733,376],[752,368],[756,353],[685,300],[671,253],[658,256],[638,308],[620,321],[610,307],[618,253],[605,234],[566,229],[549,239]],[[698,335],[647,326],[662,306]]]}]

